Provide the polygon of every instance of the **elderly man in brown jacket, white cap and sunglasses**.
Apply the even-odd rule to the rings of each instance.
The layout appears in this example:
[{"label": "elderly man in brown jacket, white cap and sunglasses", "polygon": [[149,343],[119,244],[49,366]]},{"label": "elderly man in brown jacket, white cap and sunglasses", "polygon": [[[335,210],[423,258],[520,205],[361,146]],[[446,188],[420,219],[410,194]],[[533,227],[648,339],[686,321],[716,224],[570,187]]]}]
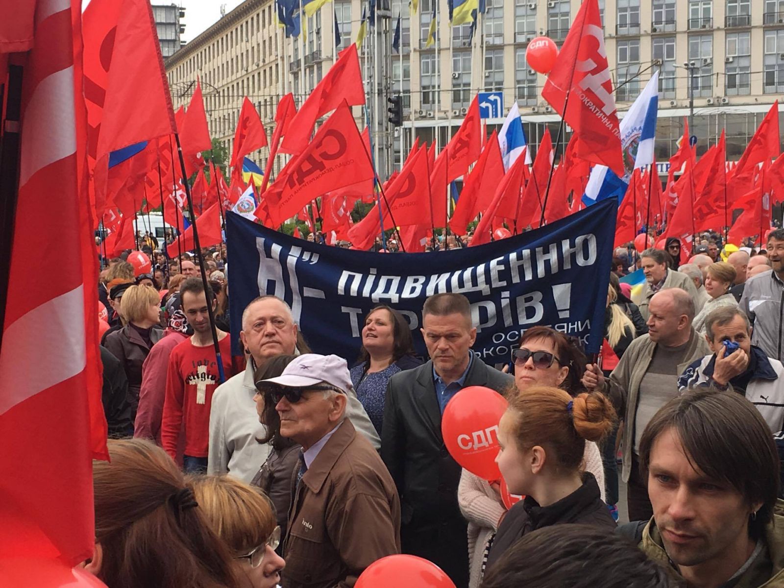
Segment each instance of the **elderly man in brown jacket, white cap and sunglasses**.
[{"label": "elderly man in brown jacket, white cap and sunglasses", "polygon": [[257,383],[302,445],[283,543],[284,588],[354,586],[374,561],[400,553],[400,499],[379,454],[345,418],[351,377],[336,355],[300,355]]}]

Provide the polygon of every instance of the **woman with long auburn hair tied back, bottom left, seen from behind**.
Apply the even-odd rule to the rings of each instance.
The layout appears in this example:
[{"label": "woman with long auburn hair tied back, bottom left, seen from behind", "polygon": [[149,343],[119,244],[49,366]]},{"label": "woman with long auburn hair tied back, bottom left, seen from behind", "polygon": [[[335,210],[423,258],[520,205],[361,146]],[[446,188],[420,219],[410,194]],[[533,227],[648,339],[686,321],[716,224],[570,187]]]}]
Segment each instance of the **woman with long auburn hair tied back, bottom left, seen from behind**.
[{"label": "woman with long auburn hair tied back, bottom left, seen from behind", "polygon": [[238,587],[227,546],[166,452],[109,440],[93,462],[96,547],[85,568],[111,588]]}]

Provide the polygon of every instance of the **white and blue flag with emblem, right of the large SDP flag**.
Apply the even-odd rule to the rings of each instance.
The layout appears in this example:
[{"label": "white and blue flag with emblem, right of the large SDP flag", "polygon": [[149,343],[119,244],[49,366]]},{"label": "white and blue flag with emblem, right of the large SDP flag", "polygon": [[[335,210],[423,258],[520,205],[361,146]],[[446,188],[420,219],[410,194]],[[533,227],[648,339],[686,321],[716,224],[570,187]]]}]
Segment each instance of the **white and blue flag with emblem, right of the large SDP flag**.
[{"label": "white and blue flag with emblem, right of the large SDP flag", "polygon": [[583,204],[595,204],[605,198],[626,194],[634,169],[653,163],[656,116],[659,112],[659,72],[656,71],[640,96],[620,122],[621,148],[626,174],[619,178],[605,165],[594,165],[590,173]]}]

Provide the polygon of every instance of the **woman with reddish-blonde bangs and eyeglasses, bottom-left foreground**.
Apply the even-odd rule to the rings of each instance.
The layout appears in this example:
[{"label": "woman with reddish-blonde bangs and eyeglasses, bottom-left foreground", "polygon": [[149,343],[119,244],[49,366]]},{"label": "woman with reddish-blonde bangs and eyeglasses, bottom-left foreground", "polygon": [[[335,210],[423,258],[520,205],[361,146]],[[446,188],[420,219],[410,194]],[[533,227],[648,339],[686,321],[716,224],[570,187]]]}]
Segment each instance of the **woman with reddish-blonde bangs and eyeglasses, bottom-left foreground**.
[{"label": "woman with reddish-blonde bangs and eyeglasses, bottom-left foreground", "polygon": [[278,586],[285,561],[275,553],[281,528],[270,499],[259,488],[228,476],[194,476],[191,484],[207,523],[234,557],[238,586]]}]

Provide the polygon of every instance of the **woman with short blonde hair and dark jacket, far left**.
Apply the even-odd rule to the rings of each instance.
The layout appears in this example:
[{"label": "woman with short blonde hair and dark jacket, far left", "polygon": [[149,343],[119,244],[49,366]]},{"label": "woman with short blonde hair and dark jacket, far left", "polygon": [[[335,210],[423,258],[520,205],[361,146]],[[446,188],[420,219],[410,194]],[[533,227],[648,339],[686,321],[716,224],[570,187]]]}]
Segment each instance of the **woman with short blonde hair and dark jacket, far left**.
[{"label": "woman with short blonde hair and dark jacket, far left", "polygon": [[131,286],[122,295],[120,312],[125,319],[125,326],[109,333],[103,345],[122,363],[128,378],[131,419],[136,420],[142,387],[142,365],[151,347],[163,339],[163,329],[158,325],[161,320],[158,291],[152,286]]}]

